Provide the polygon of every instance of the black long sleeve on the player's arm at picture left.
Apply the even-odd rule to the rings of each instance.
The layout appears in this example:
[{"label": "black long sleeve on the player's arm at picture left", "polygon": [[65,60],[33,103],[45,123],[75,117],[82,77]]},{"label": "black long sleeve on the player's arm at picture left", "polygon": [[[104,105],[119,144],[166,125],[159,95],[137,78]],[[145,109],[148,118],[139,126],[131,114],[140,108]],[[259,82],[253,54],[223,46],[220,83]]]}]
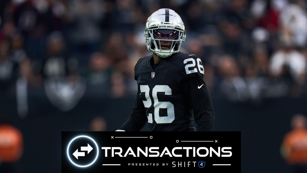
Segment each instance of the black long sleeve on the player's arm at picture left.
[{"label": "black long sleeve on the player's arm at picture left", "polygon": [[135,98],[132,112],[126,122],[118,130],[124,131],[140,131],[147,122],[146,108],[140,99],[140,87],[138,86],[138,94]]}]

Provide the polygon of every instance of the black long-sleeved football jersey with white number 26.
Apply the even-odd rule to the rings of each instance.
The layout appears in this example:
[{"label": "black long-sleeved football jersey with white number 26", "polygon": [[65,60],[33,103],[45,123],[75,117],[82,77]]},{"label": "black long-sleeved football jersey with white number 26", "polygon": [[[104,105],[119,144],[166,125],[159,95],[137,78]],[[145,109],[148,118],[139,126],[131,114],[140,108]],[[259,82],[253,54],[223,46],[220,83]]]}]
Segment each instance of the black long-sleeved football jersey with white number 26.
[{"label": "black long-sleeved football jersey with white number 26", "polygon": [[134,67],[138,94],[119,130],[139,131],[148,122],[151,131],[196,131],[195,118],[197,131],[212,131],[214,111],[201,59],[178,52],[153,69],[151,58],[140,58]]}]

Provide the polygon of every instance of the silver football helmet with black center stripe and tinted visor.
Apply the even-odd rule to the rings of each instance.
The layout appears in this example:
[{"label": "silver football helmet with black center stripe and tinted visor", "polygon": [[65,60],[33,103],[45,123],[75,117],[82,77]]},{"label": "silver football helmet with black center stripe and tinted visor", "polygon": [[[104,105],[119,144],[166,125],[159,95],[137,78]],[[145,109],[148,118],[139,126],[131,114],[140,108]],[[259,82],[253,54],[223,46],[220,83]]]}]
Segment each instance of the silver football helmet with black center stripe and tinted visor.
[{"label": "silver football helmet with black center stripe and tinted visor", "polygon": [[[168,8],[155,11],[146,21],[144,31],[147,49],[161,58],[179,52],[181,43],[185,41],[185,25],[181,17]],[[161,48],[161,41],[171,42],[169,50]]]}]

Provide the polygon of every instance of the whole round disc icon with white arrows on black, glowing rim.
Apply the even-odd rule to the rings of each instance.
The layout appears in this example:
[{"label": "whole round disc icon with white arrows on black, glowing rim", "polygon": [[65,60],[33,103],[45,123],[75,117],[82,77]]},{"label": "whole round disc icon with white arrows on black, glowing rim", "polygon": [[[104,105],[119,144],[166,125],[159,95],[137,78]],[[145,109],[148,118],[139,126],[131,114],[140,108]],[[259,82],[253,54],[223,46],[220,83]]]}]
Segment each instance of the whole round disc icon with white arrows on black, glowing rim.
[{"label": "whole round disc icon with white arrows on black, glowing rim", "polygon": [[86,135],[76,136],[67,146],[67,157],[77,167],[91,166],[98,155],[99,148],[96,141]]}]

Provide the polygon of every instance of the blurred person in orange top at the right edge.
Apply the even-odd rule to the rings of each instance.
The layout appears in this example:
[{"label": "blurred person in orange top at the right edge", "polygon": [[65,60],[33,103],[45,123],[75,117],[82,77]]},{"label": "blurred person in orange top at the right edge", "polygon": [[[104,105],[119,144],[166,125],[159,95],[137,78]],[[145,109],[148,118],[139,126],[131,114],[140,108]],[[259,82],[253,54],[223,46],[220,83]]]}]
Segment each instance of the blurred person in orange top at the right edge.
[{"label": "blurred person in orange top at the right edge", "polygon": [[293,173],[307,172],[307,119],[296,114],[291,119],[292,130],[284,136],[281,155]]}]

